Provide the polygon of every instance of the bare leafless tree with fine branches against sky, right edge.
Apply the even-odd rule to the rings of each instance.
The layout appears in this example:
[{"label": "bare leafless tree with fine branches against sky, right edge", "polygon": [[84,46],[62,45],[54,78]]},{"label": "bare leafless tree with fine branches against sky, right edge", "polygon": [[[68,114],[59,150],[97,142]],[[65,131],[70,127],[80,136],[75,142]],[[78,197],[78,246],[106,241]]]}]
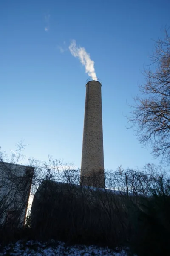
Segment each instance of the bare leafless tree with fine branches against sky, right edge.
[{"label": "bare leafless tree with fine branches against sky, right edge", "polygon": [[132,116],[142,144],[150,143],[152,153],[170,161],[170,35],[156,41],[152,64],[144,71],[145,83],[140,86],[143,96],[135,98]]}]

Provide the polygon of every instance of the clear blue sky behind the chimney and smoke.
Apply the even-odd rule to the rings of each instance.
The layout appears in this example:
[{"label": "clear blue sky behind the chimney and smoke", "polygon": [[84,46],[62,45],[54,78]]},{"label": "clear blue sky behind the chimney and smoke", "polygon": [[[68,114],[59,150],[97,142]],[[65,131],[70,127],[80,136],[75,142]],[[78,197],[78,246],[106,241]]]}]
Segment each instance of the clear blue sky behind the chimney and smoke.
[{"label": "clear blue sky behind the chimney and smoke", "polygon": [[0,15],[0,146],[81,166],[88,74],[68,47],[85,47],[102,80],[106,169],[158,163],[127,130],[154,42],[170,25],[168,0],[6,0]]}]

